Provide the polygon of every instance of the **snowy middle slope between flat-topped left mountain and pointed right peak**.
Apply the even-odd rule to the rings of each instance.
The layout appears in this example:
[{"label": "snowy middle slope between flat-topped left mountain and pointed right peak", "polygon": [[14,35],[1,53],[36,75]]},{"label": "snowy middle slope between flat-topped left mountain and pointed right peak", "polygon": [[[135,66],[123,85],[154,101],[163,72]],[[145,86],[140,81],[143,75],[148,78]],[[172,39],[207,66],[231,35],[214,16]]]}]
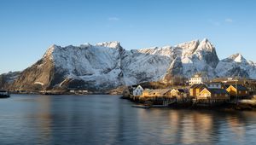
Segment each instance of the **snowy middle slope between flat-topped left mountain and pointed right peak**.
[{"label": "snowy middle slope between flat-topped left mountain and pointed right peak", "polygon": [[122,70],[125,84],[159,80],[172,61],[172,47],[125,51]]}]

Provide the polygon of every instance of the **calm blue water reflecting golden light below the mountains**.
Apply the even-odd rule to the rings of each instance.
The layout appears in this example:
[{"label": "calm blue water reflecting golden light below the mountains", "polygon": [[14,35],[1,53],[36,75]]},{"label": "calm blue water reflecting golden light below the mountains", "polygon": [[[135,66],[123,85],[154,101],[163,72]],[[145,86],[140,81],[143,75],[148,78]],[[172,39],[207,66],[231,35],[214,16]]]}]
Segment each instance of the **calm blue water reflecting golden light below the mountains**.
[{"label": "calm blue water reflecting golden light below the mountains", "polygon": [[119,96],[0,100],[0,144],[255,144],[256,112],[134,108]]}]

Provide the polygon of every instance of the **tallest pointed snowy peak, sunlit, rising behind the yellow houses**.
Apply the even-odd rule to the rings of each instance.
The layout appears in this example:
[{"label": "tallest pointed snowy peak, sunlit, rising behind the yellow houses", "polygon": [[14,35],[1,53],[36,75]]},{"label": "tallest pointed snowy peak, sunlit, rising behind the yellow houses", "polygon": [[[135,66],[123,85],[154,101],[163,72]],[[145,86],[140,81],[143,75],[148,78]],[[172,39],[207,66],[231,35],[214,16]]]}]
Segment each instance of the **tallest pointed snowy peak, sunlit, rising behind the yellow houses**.
[{"label": "tallest pointed snowy peak, sunlit, rising behind the yellow houses", "polygon": [[181,58],[184,76],[190,77],[197,72],[205,72],[209,77],[216,76],[214,69],[218,65],[218,55],[207,38],[201,42],[196,40],[178,44],[173,51],[176,57]]}]

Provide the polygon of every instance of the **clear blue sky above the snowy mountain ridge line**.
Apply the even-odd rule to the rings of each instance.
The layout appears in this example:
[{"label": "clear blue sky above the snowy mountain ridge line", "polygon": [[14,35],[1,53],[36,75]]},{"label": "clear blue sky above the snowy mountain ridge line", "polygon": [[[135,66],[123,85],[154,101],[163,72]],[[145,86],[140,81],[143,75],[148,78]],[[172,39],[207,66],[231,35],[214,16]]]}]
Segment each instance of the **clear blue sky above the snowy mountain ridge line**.
[{"label": "clear blue sky above the snowy mountain ridge line", "polygon": [[52,44],[119,41],[125,49],[208,38],[219,59],[256,62],[254,0],[1,0],[0,73],[22,71]]}]

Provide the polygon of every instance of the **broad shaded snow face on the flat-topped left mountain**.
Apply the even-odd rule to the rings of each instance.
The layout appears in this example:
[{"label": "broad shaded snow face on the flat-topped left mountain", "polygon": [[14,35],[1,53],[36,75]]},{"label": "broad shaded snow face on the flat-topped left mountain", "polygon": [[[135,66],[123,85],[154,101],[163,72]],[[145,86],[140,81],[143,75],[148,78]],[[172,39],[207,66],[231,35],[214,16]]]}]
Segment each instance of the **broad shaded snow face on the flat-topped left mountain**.
[{"label": "broad shaded snow face on the flat-topped left mountain", "polygon": [[65,78],[93,81],[96,85],[109,83],[118,86],[122,84],[119,78],[122,72],[121,50],[118,42],[63,48],[53,45],[44,58],[53,60],[57,73],[63,74]]}]

